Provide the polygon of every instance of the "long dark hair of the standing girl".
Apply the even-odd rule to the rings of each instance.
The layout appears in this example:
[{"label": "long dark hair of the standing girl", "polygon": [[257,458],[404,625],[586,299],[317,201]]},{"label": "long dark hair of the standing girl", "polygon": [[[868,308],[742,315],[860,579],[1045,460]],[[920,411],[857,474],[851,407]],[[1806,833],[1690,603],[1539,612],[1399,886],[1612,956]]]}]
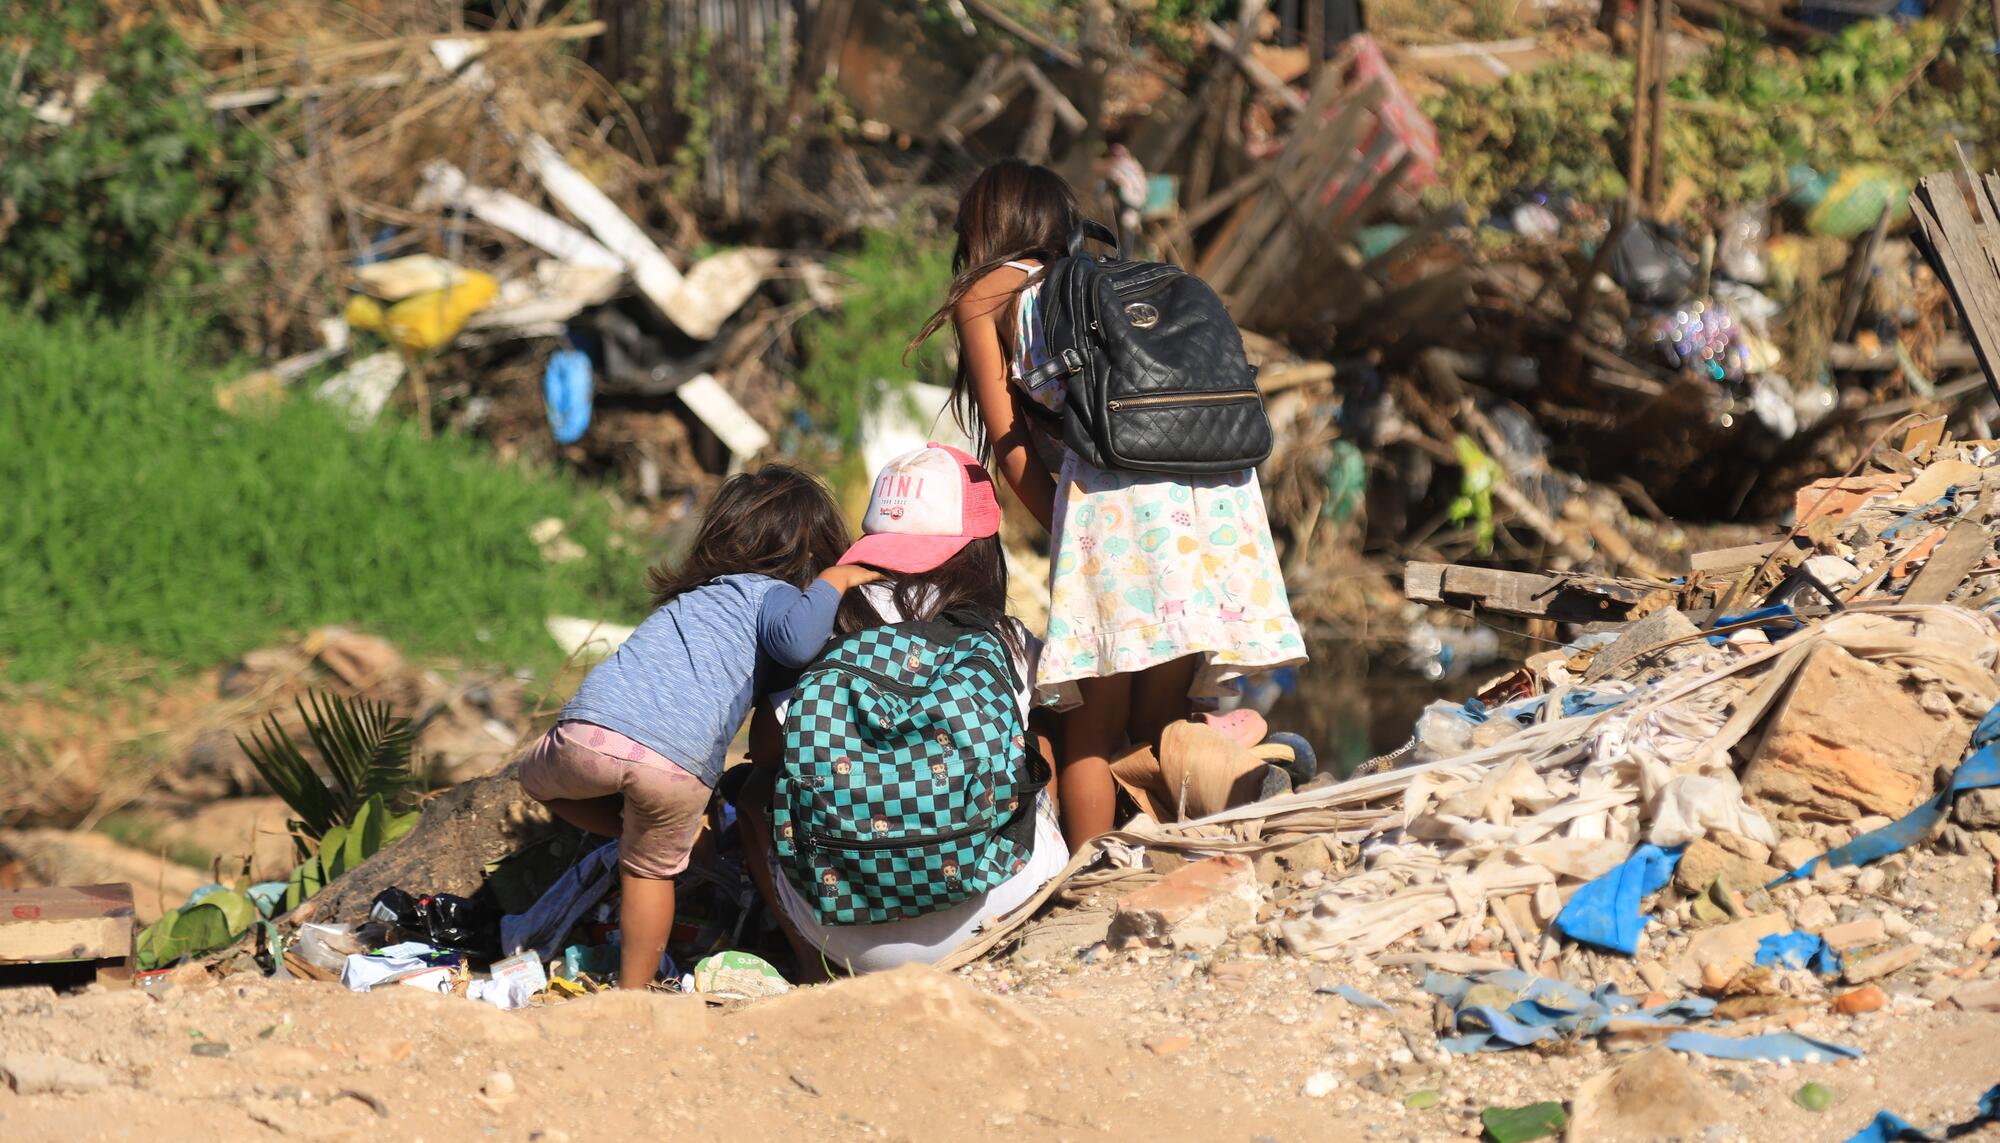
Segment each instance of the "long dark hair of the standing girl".
[{"label": "long dark hair of the standing girl", "polygon": [[[1068,252],[1070,232],[1082,218],[1076,192],[1062,176],[1018,158],[1004,158],[972,180],[966,196],[958,200],[958,246],[952,250],[952,286],[944,292],[944,306],[924,322],[910,346],[904,362],[932,334],[952,320],[952,310],[966,300],[966,294],[994,270],[1018,260],[1036,260],[1048,266]],[[1038,276],[1030,274],[1008,300],[1020,294]],[[1014,344],[1014,306],[1000,310],[1002,346]],[[956,336],[956,328],[954,328]],[[966,374],[966,356],[960,348],[958,372],[952,376],[952,418],[978,446],[980,460],[992,460],[986,440],[986,426],[980,422],[972,402],[972,378]]]}]

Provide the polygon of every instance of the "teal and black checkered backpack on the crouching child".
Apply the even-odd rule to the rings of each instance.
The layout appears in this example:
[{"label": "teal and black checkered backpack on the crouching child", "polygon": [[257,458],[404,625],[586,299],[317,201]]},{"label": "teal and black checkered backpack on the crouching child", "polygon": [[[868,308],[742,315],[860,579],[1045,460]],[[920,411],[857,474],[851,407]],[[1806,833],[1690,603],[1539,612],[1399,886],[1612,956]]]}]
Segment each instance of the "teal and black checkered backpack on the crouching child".
[{"label": "teal and black checkered backpack on the crouching child", "polygon": [[814,917],[922,917],[1028,865],[1048,763],[1018,695],[998,625],[966,611],[856,631],[806,667],[772,843]]}]

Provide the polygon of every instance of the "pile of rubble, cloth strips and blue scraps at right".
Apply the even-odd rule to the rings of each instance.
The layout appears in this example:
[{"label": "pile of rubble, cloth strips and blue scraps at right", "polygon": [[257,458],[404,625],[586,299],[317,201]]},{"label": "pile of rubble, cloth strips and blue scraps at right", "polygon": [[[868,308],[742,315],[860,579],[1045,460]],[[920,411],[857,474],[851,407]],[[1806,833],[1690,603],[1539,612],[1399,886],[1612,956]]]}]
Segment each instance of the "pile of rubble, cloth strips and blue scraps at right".
[{"label": "pile of rubble, cloth strips and blue scraps at right", "polygon": [[1060,929],[1020,931],[1058,893],[1156,881],[1100,919],[1112,947],[1428,967],[1454,1053],[1604,1035],[1834,1059],[1788,1029],[1992,1009],[2000,627],[1978,605],[2000,572],[1996,458],[1918,430],[1802,490],[1788,536],[1674,581],[1412,566],[1418,597],[1618,619],[1434,703],[1400,765],[1134,821],[954,963]]}]

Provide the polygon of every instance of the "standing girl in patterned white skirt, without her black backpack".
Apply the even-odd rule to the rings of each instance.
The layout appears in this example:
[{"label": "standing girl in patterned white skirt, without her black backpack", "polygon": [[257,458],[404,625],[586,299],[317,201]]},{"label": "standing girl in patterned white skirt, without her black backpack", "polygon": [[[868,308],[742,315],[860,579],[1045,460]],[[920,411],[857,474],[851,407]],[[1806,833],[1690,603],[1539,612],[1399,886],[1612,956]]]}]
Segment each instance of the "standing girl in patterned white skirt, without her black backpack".
[{"label": "standing girl in patterned white skirt, without her black backpack", "polygon": [[1046,358],[1042,270],[1080,218],[1076,192],[1052,170],[1022,160],[986,168],[958,202],[944,306],[910,344],[952,324],[958,422],[1050,532],[1038,685],[1050,701],[1064,683],[1082,695],[1058,759],[1072,847],[1114,825],[1112,757],[1128,745],[1158,749],[1196,697],[1306,659],[1254,472],[1104,472],[1028,416],[1022,402],[1066,402],[1060,380],[1030,392],[1020,378]]}]

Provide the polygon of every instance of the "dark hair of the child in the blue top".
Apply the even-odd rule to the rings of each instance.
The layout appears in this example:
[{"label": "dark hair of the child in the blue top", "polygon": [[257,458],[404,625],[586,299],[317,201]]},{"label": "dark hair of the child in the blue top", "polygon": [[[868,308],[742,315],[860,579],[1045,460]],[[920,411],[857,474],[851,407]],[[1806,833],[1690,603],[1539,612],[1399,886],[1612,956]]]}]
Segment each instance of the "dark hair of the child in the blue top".
[{"label": "dark hair of the child in the blue top", "polygon": [[646,572],[652,605],[718,575],[758,573],[804,587],[840,562],[848,526],[820,478],[790,464],[766,464],[722,482],[702,514],[688,558]]}]

